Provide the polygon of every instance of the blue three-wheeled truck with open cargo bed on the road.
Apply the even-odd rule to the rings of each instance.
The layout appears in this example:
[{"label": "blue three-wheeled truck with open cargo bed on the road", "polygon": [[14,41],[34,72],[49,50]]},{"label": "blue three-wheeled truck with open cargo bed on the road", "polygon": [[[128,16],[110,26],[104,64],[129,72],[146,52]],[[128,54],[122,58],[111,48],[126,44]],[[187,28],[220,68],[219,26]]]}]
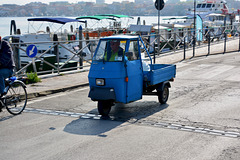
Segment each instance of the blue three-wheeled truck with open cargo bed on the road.
[{"label": "blue three-wheeled truck with open cargo bed on the road", "polygon": [[[150,64],[143,60],[141,45]],[[159,102],[164,104],[175,75],[175,65],[152,64],[140,36],[101,38],[88,75],[89,97],[98,101],[102,116],[108,116],[114,103],[130,103],[142,99],[142,95],[157,95]]]}]

